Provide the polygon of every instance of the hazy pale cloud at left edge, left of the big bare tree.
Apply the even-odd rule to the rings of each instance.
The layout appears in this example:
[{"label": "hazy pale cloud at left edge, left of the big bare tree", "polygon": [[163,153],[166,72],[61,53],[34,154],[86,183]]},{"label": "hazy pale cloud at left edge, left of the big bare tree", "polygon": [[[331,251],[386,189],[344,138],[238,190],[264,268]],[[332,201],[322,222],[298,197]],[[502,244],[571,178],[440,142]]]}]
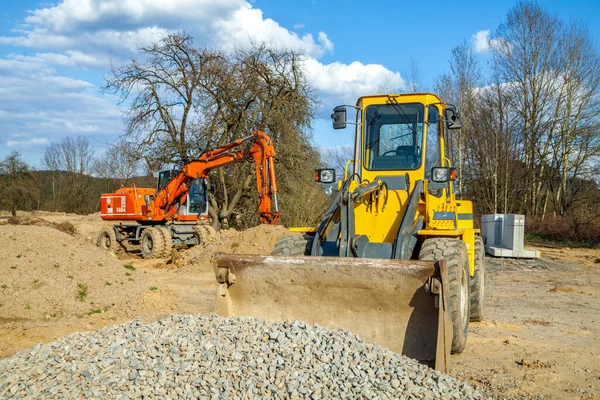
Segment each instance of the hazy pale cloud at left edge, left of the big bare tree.
[{"label": "hazy pale cloud at left edge, left of the big bare tree", "polygon": [[47,58],[0,59],[0,157],[11,148],[38,163],[51,141],[85,135],[92,144],[107,143],[122,130],[114,99],[98,97],[89,82],[57,75]]}]

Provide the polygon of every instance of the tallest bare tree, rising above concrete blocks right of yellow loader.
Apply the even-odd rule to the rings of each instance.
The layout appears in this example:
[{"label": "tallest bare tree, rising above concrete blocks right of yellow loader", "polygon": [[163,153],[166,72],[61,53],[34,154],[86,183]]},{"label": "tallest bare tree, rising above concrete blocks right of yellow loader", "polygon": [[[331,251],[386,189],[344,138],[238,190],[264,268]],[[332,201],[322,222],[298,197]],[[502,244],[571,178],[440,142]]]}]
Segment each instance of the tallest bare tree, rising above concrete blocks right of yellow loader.
[{"label": "tallest bare tree, rising above concrete blocks right of yellow loader", "polygon": [[554,139],[555,82],[560,78],[563,25],[537,3],[519,2],[494,35],[493,70],[509,84],[511,107],[520,120],[524,177],[529,190],[522,209],[537,215],[543,176]]}]

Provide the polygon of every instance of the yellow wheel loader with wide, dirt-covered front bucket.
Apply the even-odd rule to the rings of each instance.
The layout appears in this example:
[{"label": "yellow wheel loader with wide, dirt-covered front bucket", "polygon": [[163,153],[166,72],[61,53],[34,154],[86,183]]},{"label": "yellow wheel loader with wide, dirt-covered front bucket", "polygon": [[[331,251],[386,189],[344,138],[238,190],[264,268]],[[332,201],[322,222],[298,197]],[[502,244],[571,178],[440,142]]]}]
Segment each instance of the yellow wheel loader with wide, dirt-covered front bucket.
[{"label": "yellow wheel loader with wide, dirt-covered front bucket", "polygon": [[483,242],[454,184],[458,111],[429,93],[377,95],[332,119],[355,127],[355,149],[324,218],[272,256],[217,258],[215,311],[346,329],[445,371],[485,301]]}]

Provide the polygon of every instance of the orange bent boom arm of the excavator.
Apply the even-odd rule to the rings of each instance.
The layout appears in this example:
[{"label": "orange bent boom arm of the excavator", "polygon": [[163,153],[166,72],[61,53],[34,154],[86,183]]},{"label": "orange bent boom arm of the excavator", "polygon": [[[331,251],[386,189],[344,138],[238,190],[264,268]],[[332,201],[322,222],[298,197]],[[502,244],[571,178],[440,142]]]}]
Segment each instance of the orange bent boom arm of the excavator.
[{"label": "orange bent boom arm of the excavator", "polygon": [[[233,151],[245,144],[245,148]],[[277,203],[274,157],[275,148],[271,138],[262,131],[254,131],[251,136],[206,151],[198,159],[185,164],[182,171],[156,194],[155,215],[164,214],[176,220],[178,214],[175,206],[185,199],[194,180],[207,178],[215,168],[246,160],[254,162],[256,167],[260,221],[263,224],[275,225],[281,213]]]}]

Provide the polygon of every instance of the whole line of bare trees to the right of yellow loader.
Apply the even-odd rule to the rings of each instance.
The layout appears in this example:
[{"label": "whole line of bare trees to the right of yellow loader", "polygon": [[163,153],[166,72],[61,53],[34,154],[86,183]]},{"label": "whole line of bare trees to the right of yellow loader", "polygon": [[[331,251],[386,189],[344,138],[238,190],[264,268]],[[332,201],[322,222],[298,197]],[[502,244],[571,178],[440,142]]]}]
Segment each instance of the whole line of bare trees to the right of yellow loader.
[{"label": "whole line of bare trees to the right of yellow loader", "polygon": [[600,218],[598,48],[583,22],[528,1],[488,44],[486,73],[465,41],[435,85],[461,110],[460,191],[479,214],[558,217],[569,223],[565,236],[581,236]]}]

